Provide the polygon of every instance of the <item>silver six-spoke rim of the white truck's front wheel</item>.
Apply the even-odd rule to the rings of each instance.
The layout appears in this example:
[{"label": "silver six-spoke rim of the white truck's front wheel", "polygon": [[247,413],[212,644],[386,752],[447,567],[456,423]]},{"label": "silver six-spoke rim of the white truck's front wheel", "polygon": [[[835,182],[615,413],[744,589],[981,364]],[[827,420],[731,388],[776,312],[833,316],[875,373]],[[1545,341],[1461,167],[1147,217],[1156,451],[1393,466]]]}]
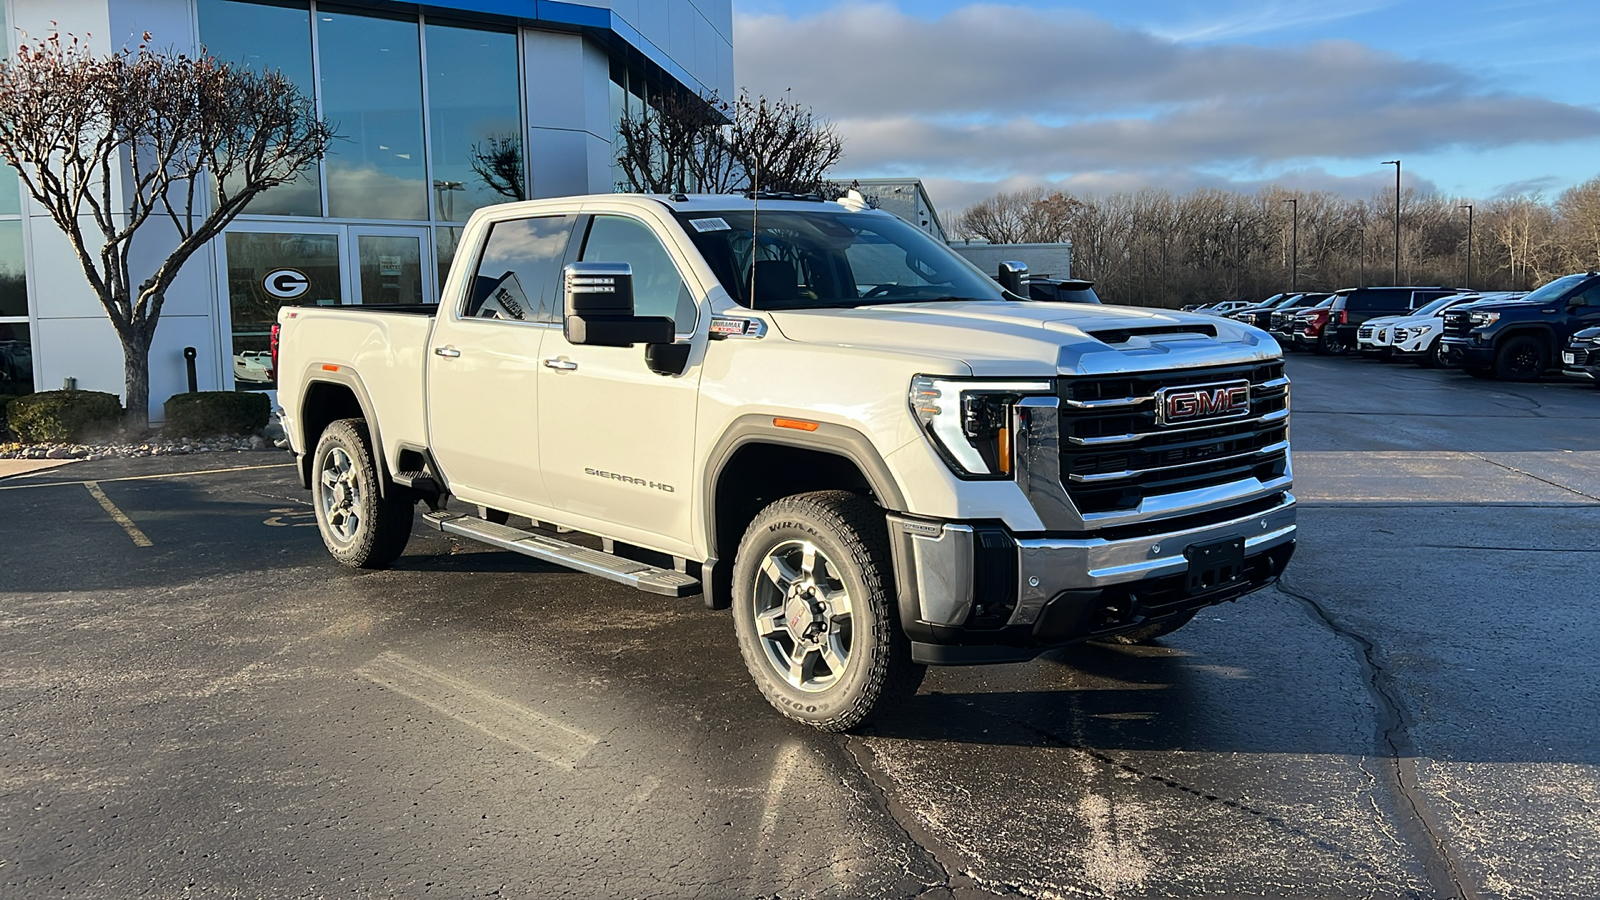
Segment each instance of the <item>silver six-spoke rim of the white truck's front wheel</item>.
[{"label": "silver six-spoke rim of the white truck's front wheel", "polygon": [[814,543],[784,541],[768,551],[750,602],[773,674],[806,693],[838,684],[854,649],[854,605],[838,567]]}]

